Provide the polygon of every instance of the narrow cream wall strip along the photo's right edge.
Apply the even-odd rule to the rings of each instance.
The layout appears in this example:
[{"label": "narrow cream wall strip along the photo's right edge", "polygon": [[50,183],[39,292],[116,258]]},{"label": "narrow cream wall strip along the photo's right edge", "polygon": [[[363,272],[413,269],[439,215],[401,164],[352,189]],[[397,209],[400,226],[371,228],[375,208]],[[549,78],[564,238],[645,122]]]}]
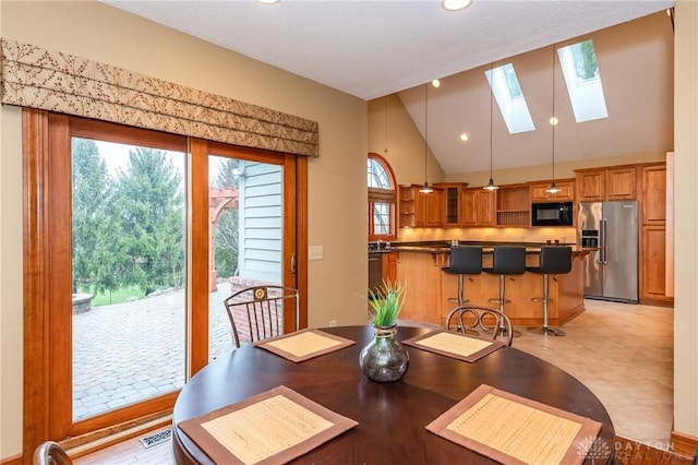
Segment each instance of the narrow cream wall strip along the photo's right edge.
[{"label": "narrow cream wall strip along the photo's right edge", "polygon": [[698,439],[698,2],[675,13],[674,429]]}]

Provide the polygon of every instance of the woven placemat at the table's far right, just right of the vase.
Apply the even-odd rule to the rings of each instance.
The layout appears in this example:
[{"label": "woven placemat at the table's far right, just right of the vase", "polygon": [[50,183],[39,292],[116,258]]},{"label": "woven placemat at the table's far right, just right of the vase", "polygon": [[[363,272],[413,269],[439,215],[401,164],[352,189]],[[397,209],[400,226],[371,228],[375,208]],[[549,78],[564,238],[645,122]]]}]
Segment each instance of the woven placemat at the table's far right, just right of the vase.
[{"label": "woven placemat at the table's far right, just right of the vase", "polygon": [[505,346],[500,341],[479,339],[452,331],[433,331],[402,341],[402,344],[469,362]]}]

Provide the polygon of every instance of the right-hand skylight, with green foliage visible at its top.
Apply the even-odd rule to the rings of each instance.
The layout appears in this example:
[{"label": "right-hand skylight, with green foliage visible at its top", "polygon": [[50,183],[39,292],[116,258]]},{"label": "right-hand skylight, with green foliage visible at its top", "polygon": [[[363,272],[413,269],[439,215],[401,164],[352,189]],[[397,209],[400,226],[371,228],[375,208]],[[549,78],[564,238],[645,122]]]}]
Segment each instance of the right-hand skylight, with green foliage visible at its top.
[{"label": "right-hand skylight, with green foliage visible at its top", "polygon": [[601,72],[591,39],[557,50],[577,122],[607,118]]}]

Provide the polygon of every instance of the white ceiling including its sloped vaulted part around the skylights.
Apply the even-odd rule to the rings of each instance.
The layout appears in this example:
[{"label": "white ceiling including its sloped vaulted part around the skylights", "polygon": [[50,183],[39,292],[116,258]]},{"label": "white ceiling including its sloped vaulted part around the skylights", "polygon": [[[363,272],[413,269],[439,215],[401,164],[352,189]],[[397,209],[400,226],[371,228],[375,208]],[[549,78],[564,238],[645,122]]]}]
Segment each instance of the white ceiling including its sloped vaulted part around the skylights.
[{"label": "white ceiling including its sloped vaulted part around the skylights", "polygon": [[[575,123],[555,79],[555,159],[673,148],[673,34],[666,0],[438,1],[104,0],[366,100],[397,93],[446,174],[540,165],[552,157],[552,44],[593,38],[609,118]],[[659,13],[658,13],[659,12]],[[611,27],[613,26],[613,27]],[[483,72],[514,63],[534,131],[508,134]],[[459,140],[461,132],[469,141]]]}]

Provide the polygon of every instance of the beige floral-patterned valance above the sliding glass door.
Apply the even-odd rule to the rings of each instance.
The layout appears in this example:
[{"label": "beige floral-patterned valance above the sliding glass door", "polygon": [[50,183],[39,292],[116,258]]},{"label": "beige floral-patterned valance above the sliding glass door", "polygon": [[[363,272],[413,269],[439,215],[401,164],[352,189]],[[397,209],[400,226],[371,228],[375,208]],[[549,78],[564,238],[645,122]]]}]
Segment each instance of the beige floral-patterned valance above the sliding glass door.
[{"label": "beige floral-patterned valance above the sliding glass door", "polygon": [[317,122],[2,38],[2,104],[317,156]]}]

